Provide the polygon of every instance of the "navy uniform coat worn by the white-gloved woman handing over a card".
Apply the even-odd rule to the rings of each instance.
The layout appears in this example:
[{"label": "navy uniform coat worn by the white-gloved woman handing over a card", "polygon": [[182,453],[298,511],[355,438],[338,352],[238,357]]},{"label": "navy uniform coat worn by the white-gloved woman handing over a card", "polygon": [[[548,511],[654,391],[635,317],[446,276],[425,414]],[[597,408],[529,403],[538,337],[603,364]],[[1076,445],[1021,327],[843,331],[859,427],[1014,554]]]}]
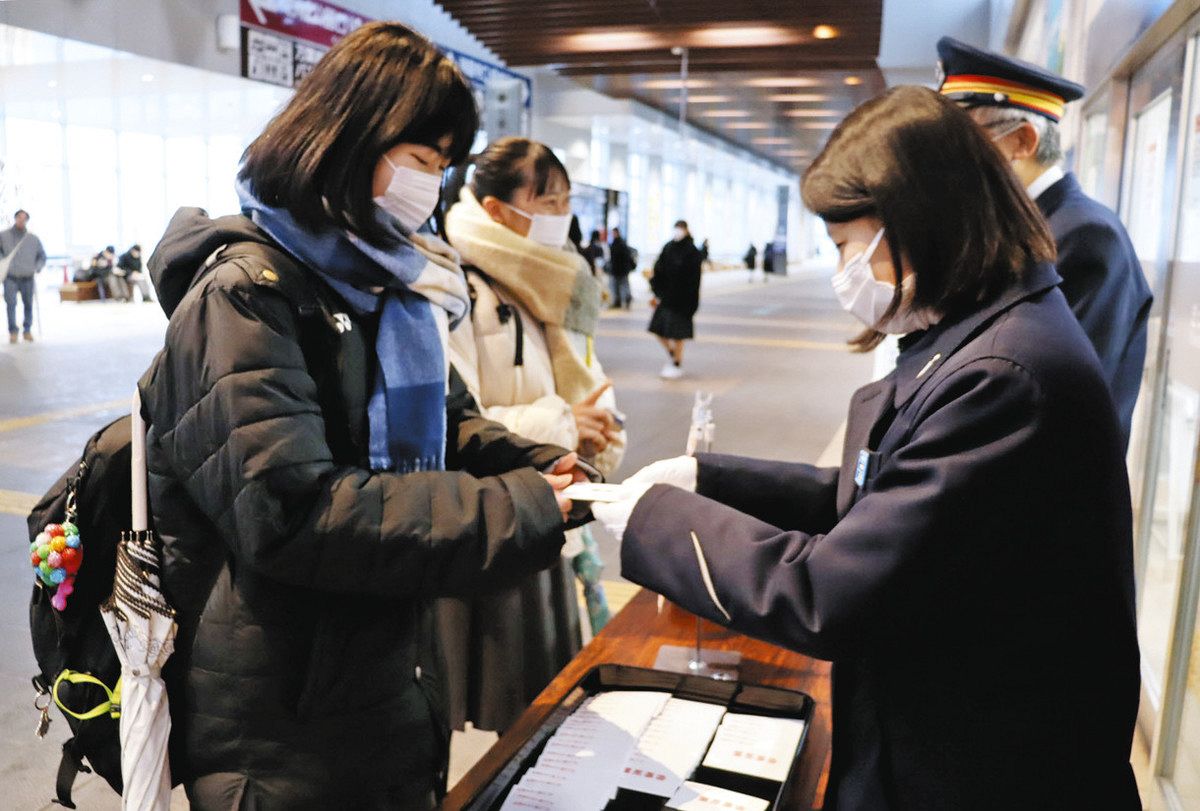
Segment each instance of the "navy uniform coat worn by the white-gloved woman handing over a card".
[{"label": "navy uniform coat worn by the white-gloved woman handing over a card", "polygon": [[1128,480],[1058,281],[912,336],[840,470],[707,455],[630,516],[625,577],[834,662],[828,809],[1140,807]]}]

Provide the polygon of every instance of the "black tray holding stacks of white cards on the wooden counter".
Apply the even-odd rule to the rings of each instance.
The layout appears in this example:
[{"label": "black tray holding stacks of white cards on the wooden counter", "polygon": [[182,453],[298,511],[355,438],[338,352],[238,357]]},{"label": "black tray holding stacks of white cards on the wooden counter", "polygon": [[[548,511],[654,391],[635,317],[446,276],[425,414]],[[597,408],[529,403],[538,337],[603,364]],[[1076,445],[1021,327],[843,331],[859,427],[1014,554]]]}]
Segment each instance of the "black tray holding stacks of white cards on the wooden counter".
[{"label": "black tray holding stacks of white cards on the wooden counter", "polygon": [[[558,727],[589,696],[606,690],[656,690],[670,692],[676,698],[688,698],[709,704],[721,704],[730,711],[748,715],[767,715],[773,717],[798,719],[804,721],[804,732],[796,746],[792,765],[782,783],[761,777],[720,771],[698,767],[689,780],[709,786],[720,786],[743,794],[750,794],[770,801],[770,809],[782,810],[784,797],[792,783],[799,777],[800,752],[808,740],[809,727],[812,723],[814,702],[806,693],[782,687],[743,684],[742,681],[718,681],[697,675],[653,671],[628,665],[598,665],[580,679],[580,681],[558,703],[558,707],[546,716],[541,726],[533,731],[517,752],[509,758],[491,782],[484,786],[464,806],[466,811],[499,811],[508,797],[509,788],[520,782],[526,769],[538,762],[542,746],[554,734]],[[666,805],[666,799],[620,789],[617,798],[608,803],[605,811],[641,811],[658,810]],[[564,810],[565,811],[565,810]]]}]

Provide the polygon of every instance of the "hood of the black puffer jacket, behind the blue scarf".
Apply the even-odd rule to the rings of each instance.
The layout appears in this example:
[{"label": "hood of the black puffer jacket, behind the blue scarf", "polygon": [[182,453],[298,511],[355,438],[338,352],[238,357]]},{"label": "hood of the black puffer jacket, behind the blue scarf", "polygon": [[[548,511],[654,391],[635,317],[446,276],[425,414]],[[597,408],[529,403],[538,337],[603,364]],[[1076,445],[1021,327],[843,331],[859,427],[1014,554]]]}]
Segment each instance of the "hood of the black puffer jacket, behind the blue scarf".
[{"label": "hood of the black puffer jacket, behind the blue scarf", "polygon": [[146,269],[167,318],[184,300],[204,269],[204,262],[223,245],[262,242],[274,245],[250,217],[233,215],[212,220],[204,209],[180,209],[170,218]]}]

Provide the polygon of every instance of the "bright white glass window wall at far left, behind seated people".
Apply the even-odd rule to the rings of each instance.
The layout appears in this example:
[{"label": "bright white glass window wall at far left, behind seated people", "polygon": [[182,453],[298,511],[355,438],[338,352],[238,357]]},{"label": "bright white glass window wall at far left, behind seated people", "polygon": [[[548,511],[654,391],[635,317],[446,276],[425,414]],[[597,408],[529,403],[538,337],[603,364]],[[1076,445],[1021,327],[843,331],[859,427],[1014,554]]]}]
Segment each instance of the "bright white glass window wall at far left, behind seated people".
[{"label": "bright white glass window wall at far left, behind seated people", "polygon": [[0,222],[47,252],[149,252],[174,210],[236,210],[242,150],[290,91],[0,25]]}]

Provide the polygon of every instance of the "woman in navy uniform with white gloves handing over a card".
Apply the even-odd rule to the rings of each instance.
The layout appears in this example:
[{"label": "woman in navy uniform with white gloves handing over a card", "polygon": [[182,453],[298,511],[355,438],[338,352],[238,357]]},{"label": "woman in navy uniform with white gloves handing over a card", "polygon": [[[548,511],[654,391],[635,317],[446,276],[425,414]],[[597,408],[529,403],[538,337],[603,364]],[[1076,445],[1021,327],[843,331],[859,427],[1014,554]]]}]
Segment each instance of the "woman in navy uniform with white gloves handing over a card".
[{"label": "woman in navy uniform with white gloves handing over a card", "polygon": [[593,510],[622,573],[828,659],[827,809],[1136,809],[1129,489],[1054,242],[958,106],[895,88],[803,182],[842,306],[901,334],[839,468],[664,459]]}]

